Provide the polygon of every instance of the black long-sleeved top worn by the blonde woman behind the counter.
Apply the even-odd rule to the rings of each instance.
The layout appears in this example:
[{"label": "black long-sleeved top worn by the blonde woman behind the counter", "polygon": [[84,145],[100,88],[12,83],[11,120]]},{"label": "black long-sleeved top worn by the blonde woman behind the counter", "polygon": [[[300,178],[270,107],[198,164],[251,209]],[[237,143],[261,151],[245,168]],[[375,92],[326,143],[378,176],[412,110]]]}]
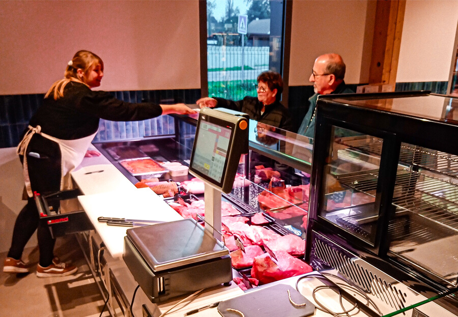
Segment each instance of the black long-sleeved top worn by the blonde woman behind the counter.
[{"label": "black long-sleeved top worn by the blonde woman behind the counter", "polygon": [[94,134],[99,120],[137,121],[158,117],[162,108],[153,103],[129,103],[104,91],[92,91],[87,85],[70,81],[64,97],[54,100],[52,94],[44,99],[30,121],[53,137],[74,140]]}]

